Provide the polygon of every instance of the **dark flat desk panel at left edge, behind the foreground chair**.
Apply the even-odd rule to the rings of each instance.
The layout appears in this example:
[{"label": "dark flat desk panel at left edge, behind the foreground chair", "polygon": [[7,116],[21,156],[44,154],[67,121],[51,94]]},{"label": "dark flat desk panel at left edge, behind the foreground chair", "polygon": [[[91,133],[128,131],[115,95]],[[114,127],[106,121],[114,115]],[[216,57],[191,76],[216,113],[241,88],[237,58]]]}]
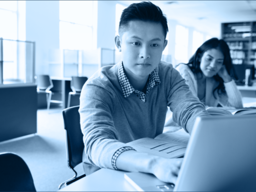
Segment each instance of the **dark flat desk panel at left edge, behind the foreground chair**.
[{"label": "dark flat desk panel at left edge, behind the foreground chair", "polygon": [[0,85],[0,142],[37,133],[37,85]]}]

